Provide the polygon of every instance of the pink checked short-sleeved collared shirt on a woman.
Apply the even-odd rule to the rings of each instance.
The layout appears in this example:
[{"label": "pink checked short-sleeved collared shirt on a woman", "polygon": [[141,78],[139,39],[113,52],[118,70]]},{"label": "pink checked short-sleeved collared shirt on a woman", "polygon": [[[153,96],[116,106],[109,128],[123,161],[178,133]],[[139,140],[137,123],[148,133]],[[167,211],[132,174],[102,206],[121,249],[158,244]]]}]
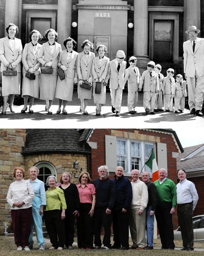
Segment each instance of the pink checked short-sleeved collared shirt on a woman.
[{"label": "pink checked short-sleeved collared shirt on a woman", "polygon": [[94,185],[87,183],[84,187],[82,187],[81,184],[78,184],[77,188],[79,191],[80,203],[92,204],[92,195],[96,194]]}]

